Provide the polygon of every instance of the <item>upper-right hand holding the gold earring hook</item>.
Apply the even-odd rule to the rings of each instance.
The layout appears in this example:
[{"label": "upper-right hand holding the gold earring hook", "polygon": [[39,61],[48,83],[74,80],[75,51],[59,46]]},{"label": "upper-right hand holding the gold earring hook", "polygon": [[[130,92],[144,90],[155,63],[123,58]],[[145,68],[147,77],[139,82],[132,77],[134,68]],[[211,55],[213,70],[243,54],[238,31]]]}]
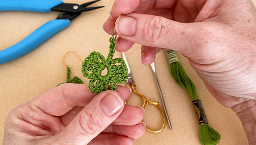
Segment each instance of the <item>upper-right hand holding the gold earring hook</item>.
[{"label": "upper-right hand holding the gold earring hook", "polygon": [[117,51],[142,44],[146,65],[160,48],[179,51],[224,106],[256,99],[256,10],[250,0],[115,0],[103,25],[107,33],[120,13]]}]

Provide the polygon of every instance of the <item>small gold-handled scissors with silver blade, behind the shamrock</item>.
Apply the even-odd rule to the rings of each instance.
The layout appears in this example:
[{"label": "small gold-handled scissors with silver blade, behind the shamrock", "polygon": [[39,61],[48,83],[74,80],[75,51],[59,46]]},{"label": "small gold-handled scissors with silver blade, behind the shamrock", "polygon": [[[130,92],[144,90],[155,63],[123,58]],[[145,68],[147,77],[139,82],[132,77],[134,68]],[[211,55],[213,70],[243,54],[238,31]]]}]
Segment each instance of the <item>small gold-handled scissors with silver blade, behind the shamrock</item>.
[{"label": "small gold-handled scissors with silver blade, behind the shamrock", "polygon": [[[164,127],[164,121],[165,121],[165,116],[163,114],[163,111],[161,109],[161,107],[159,106],[158,102],[154,102],[154,101],[150,101],[148,100],[147,98],[145,98],[144,95],[142,95],[141,93],[139,93],[136,89],[136,84],[134,83],[133,81],[133,78],[132,78],[132,75],[131,75],[131,71],[130,71],[130,68],[129,68],[129,65],[128,65],[128,62],[127,62],[127,59],[125,57],[125,54],[124,52],[122,52],[122,58],[127,66],[127,70],[128,70],[128,79],[126,80],[126,83],[127,83],[127,87],[131,88],[132,92],[135,93],[137,96],[139,96],[141,99],[142,99],[142,106],[143,108],[146,108],[146,106],[149,104],[149,105],[154,105],[158,108],[158,110],[160,111],[161,113],[161,116],[162,116],[162,126],[160,129],[158,130],[152,130],[152,129],[149,129],[148,127],[146,127],[146,130],[148,132],[151,132],[151,133],[159,133],[162,131],[163,127]],[[127,104],[127,102],[126,102]]]}]

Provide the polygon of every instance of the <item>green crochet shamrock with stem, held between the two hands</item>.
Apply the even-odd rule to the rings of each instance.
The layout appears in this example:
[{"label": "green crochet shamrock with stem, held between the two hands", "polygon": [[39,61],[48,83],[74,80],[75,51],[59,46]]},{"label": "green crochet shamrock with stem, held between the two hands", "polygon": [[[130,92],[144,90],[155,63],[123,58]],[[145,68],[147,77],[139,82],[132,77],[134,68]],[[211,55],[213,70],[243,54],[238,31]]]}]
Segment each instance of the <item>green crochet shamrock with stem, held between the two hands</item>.
[{"label": "green crochet shamrock with stem, held between the two hands", "polygon": [[[92,93],[100,93],[108,90],[116,90],[116,83],[122,84],[127,80],[127,67],[121,58],[112,59],[115,47],[115,38],[109,38],[109,53],[105,59],[99,52],[91,52],[82,63],[82,74],[90,79],[89,89]],[[101,75],[102,70],[107,69],[106,75]]]}]

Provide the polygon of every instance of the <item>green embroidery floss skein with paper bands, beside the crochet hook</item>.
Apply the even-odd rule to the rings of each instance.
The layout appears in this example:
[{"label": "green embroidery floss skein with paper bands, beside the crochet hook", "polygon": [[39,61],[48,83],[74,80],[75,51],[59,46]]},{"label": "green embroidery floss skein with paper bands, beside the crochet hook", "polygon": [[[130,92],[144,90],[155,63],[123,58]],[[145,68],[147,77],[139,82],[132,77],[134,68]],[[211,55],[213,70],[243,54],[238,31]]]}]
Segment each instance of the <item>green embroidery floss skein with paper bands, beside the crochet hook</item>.
[{"label": "green embroidery floss skein with paper bands, beside the crochet hook", "polygon": [[193,108],[200,126],[199,139],[202,145],[216,145],[220,140],[220,135],[217,131],[208,125],[205,113],[202,108],[193,82],[186,75],[182,65],[177,59],[176,53],[173,50],[166,50],[166,55],[169,60],[171,75],[176,83],[187,90],[190,99],[192,100]]}]

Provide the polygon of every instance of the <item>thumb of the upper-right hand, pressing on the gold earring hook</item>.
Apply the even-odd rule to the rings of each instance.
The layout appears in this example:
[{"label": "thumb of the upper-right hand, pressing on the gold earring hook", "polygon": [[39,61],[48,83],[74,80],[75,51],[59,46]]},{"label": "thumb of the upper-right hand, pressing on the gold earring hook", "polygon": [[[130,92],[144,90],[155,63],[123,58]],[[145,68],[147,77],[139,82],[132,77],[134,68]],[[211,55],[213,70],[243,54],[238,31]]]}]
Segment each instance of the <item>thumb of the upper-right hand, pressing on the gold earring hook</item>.
[{"label": "thumb of the upper-right hand, pressing on the gold earring hook", "polygon": [[[200,43],[202,23],[181,23],[161,16],[131,13],[122,15],[116,31],[125,40],[151,47],[184,51]],[[194,37],[196,34],[196,37]],[[198,41],[197,41],[198,39]]]}]

